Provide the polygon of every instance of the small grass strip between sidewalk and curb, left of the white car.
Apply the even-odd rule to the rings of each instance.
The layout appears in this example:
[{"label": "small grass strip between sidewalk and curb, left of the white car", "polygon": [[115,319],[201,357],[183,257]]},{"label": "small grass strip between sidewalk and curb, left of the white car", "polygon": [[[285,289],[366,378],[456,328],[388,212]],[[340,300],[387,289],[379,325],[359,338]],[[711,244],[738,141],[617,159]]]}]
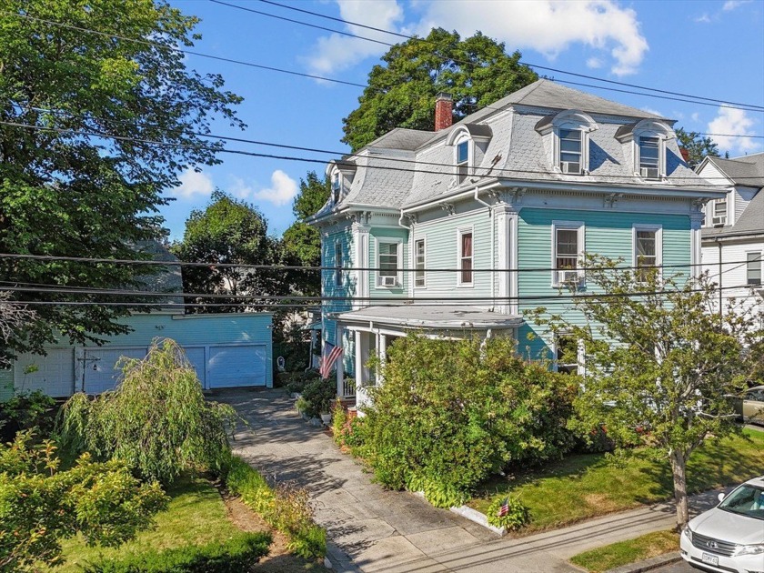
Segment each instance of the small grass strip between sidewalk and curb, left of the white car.
[{"label": "small grass strip between sidewalk and curb, left of the white car", "polygon": [[591,573],[599,573],[678,550],[679,533],[656,531],[643,535],[641,538],[619,541],[603,548],[579,553],[570,558],[570,562]]}]

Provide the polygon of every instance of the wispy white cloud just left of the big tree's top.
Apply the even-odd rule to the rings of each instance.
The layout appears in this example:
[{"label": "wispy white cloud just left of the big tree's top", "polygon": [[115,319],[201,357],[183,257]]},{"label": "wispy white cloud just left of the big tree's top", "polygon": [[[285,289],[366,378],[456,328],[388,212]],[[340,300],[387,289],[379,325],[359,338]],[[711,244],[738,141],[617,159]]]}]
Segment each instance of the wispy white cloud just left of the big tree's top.
[{"label": "wispy white cloud just left of the big tree's top", "polygon": [[[339,15],[343,20],[358,24],[374,25],[383,30],[397,31],[397,22],[403,18],[403,10],[396,0],[337,0]],[[375,32],[356,25],[346,25],[347,32],[362,35],[387,44],[396,44],[401,38]],[[305,61],[313,74],[330,75],[347,69],[371,55],[382,55],[389,46],[369,42],[347,35],[332,34],[318,39],[312,55]]]}]

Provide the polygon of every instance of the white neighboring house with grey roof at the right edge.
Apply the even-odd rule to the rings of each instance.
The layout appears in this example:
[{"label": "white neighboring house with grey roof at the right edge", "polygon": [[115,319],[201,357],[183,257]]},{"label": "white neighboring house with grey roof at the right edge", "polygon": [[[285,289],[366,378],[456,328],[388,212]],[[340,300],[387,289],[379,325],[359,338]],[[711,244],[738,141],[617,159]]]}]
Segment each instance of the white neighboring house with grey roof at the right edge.
[{"label": "white neighboring house with grey roof at the right edge", "polygon": [[696,171],[710,183],[727,188],[724,199],[706,206],[701,231],[703,270],[722,287],[723,299],[746,297],[764,310],[764,153],[733,159],[706,157]]}]

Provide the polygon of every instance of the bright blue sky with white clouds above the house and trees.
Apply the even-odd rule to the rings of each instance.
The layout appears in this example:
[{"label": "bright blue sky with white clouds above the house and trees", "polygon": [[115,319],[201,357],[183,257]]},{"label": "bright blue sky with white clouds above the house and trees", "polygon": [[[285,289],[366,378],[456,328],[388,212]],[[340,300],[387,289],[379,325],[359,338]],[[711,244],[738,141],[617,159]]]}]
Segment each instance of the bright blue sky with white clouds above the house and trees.
[{"label": "bright blue sky with white clouds above the house and trees", "polygon": [[[426,35],[439,25],[463,37],[477,30],[518,49],[523,61],[578,74],[645,85],[672,92],[764,106],[764,0],[706,2],[615,0],[319,0],[284,4],[374,25],[404,34]],[[226,0],[230,4],[282,15],[313,25],[354,32],[382,41],[382,35],[350,25],[300,14],[257,0]],[[197,15],[202,39],[198,52],[281,67],[366,84],[380,55],[379,45],[303,25],[292,24],[219,5],[209,0],[172,0],[184,13]],[[357,106],[362,88],[320,82],[244,65],[188,55],[186,64],[200,73],[215,72],[226,89],[244,97],[238,114],[246,131],[224,124],[213,133],[264,142],[347,151],[340,143],[342,118]],[[544,72],[558,80],[595,84],[570,75]],[[577,87],[576,85],[570,85]],[[764,135],[764,113],[717,105],[671,101],[578,87],[609,99],[677,119],[688,130],[739,135]],[[628,88],[624,88],[628,89]],[[730,156],[764,149],[764,139],[714,137]],[[331,156],[229,143],[233,149],[327,161]],[[291,203],[307,171],[324,166],[301,161],[221,155],[219,166],[203,166],[181,174],[182,185],[169,195],[176,200],[163,208],[172,238],[180,238],[192,209],[206,205],[218,187],[256,205],[271,233],[280,235],[292,224]]]}]

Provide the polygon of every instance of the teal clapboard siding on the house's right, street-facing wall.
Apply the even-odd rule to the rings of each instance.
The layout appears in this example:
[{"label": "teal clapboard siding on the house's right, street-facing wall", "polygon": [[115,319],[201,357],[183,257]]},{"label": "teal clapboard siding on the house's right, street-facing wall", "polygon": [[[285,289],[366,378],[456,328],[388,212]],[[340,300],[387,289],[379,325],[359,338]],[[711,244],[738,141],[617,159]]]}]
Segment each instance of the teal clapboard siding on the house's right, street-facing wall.
[{"label": "teal clapboard siding on the house's right, street-facing wall", "polygon": [[[683,273],[687,276],[690,267],[690,223],[689,216],[640,214],[617,211],[574,211],[561,209],[524,208],[518,219],[518,295],[520,297],[554,297],[560,294],[552,286],[552,273],[549,270],[523,272],[523,268],[551,268],[552,260],[552,222],[580,221],[585,225],[585,249],[590,254],[622,257],[623,265],[632,266],[632,227],[635,224],[660,225],[663,235],[663,265],[688,265],[683,268],[666,269],[668,274]],[[588,286],[590,289],[591,286]],[[563,292],[563,294],[567,294]],[[564,305],[548,300],[520,301],[518,308],[522,313],[536,307],[548,307],[554,313],[565,313],[568,320],[580,321],[580,313]],[[551,341],[544,331],[532,321],[518,331],[518,347],[524,356],[530,358],[551,357]],[[528,340],[531,334],[533,340]]]}]

